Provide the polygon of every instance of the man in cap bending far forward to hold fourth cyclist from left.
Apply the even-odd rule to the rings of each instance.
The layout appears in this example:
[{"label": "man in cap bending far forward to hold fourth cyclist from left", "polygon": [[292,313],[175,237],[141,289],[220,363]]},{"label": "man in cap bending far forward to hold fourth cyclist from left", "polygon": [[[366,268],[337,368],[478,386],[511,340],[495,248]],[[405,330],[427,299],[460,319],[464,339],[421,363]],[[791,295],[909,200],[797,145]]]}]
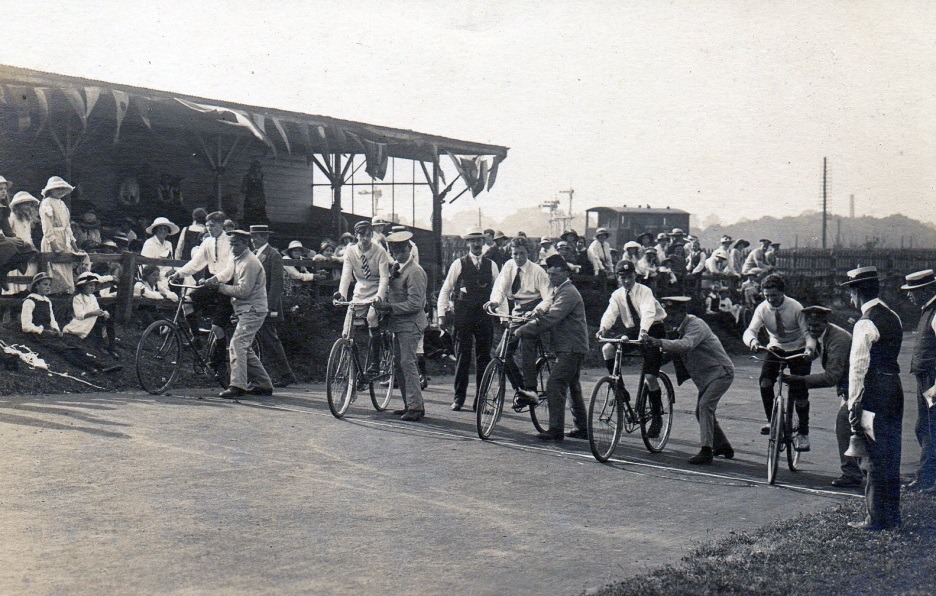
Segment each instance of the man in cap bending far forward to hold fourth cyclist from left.
[{"label": "man in cap bending far forward to hold fourth cyclist from left", "polygon": [[702,448],[689,458],[689,463],[705,465],[712,463],[717,455],[725,459],[734,457],[734,449],[715,418],[718,401],[734,381],[734,364],[708,324],[686,313],[690,300],[688,296],[660,298],[660,302],[666,304],[666,329],[675,332],[676,338],[658,339],[648,335],[644,342],[671,354],[677,382],[682,384],[687,378],[692,379],[699,390],[695,415]]}]

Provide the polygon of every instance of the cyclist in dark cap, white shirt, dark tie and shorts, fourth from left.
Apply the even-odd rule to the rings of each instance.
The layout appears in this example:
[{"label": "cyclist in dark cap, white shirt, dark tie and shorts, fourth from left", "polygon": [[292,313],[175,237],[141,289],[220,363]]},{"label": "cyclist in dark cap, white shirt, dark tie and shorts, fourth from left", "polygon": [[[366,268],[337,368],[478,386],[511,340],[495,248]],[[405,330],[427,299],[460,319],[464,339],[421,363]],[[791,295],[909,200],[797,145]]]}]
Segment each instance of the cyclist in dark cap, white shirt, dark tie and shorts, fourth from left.
[{"label": "cyclist in dark cap, white shirt, dark tie and shorts, fourth from left", "polygon": [[[598,324],[598,336],[607,337],[611,328],[618,319],[624,324],[624,335],[629,339],[644,340],[647,337],[666,337],[666,328],[663,319],[666,311],[653,297],[653,290],[643,284],[637,283],[637,270],[630,261],[619,261],[614,268],[621,287],[611,294],[608,308],[601,316]],[[614,374],[613,344],[605,344],[601,348],[608,372]],[[643,348],[643,373],[647,381],[647,400],[650,402],[650,428],[647,436],[656,438],[660,436],[663,427],[663,392],[660,390],[658,376],[660,366],[663,364],[663,353],[660,348],[647,344]],[[623,399],[629,400],[630,395],[623,384],[618,386]]]}]

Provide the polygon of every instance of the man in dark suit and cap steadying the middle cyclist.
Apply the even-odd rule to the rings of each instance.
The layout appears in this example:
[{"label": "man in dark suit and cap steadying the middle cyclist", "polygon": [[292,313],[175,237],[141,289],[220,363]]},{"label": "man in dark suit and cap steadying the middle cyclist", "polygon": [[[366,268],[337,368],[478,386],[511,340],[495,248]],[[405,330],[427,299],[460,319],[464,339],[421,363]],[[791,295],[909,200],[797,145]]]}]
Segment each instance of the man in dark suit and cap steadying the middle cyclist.
[{"label": "man in dark suit and cap steadying the middle cyclist", "polygon": [[572,400],[572,416],[575,419],[575,430],[570,431],[568,436],[574,439],[588,438],[588,412],[579,383],[582,361],[588,352],[588,323],[585,321],[582,295],[569,281],[571,273],[569,265],[559,255],[546,259],[552,303],[545,312],[536,313],[529,323],[516,331],[518,337],[535,337],[550,332],[551,345],[557,356],[546,382],[549,431],[538,435],[544,441],[561,441],[566,436],[563,433],[567,393]]}]

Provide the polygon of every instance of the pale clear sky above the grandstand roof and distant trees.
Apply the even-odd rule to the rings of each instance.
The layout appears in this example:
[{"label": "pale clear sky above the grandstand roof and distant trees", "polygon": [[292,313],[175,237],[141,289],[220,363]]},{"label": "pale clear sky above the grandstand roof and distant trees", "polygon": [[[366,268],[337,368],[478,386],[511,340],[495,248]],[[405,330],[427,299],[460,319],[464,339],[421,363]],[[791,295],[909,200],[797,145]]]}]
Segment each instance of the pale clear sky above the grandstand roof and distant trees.
[{"label": "pale clear sky above the grandstand roof and distant trees", "polygon": [[510,147],[449,215],[570,187],[574,211],[793,215],[821,208],[826,157],[830,211],[936,222],[936,3],[0,7],[0,63]]}]

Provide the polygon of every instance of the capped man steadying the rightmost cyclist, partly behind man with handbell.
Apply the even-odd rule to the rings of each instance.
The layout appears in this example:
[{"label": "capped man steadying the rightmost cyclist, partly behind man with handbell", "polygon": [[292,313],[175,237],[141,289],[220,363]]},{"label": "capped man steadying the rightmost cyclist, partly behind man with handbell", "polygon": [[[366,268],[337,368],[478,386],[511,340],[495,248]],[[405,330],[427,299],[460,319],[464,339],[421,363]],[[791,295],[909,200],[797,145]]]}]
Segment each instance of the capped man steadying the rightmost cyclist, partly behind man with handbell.
[{"label": "capped man steadying the rightmost cyclist, partly behind man with handbell", "polygon": [[810,350],[810,358],[820,360],[822,372],[808,375],[784,374],[783,380],[793,387],[797,383],[809,389],[835,387],[840,399],[839,412],[835,417],[835,438],[838,443],[839,462],[842,475],[832,481],[832,486],[853,488],[861,486],[864,475],[858,467],[858,460],[845,455],[851,441],[851,425],[848,422],[848,355],[851,353],[851,333],[829,322],[832,309],[824,306],[807,306],[803,309],[806,317],[806,332],[816,342]]}]

